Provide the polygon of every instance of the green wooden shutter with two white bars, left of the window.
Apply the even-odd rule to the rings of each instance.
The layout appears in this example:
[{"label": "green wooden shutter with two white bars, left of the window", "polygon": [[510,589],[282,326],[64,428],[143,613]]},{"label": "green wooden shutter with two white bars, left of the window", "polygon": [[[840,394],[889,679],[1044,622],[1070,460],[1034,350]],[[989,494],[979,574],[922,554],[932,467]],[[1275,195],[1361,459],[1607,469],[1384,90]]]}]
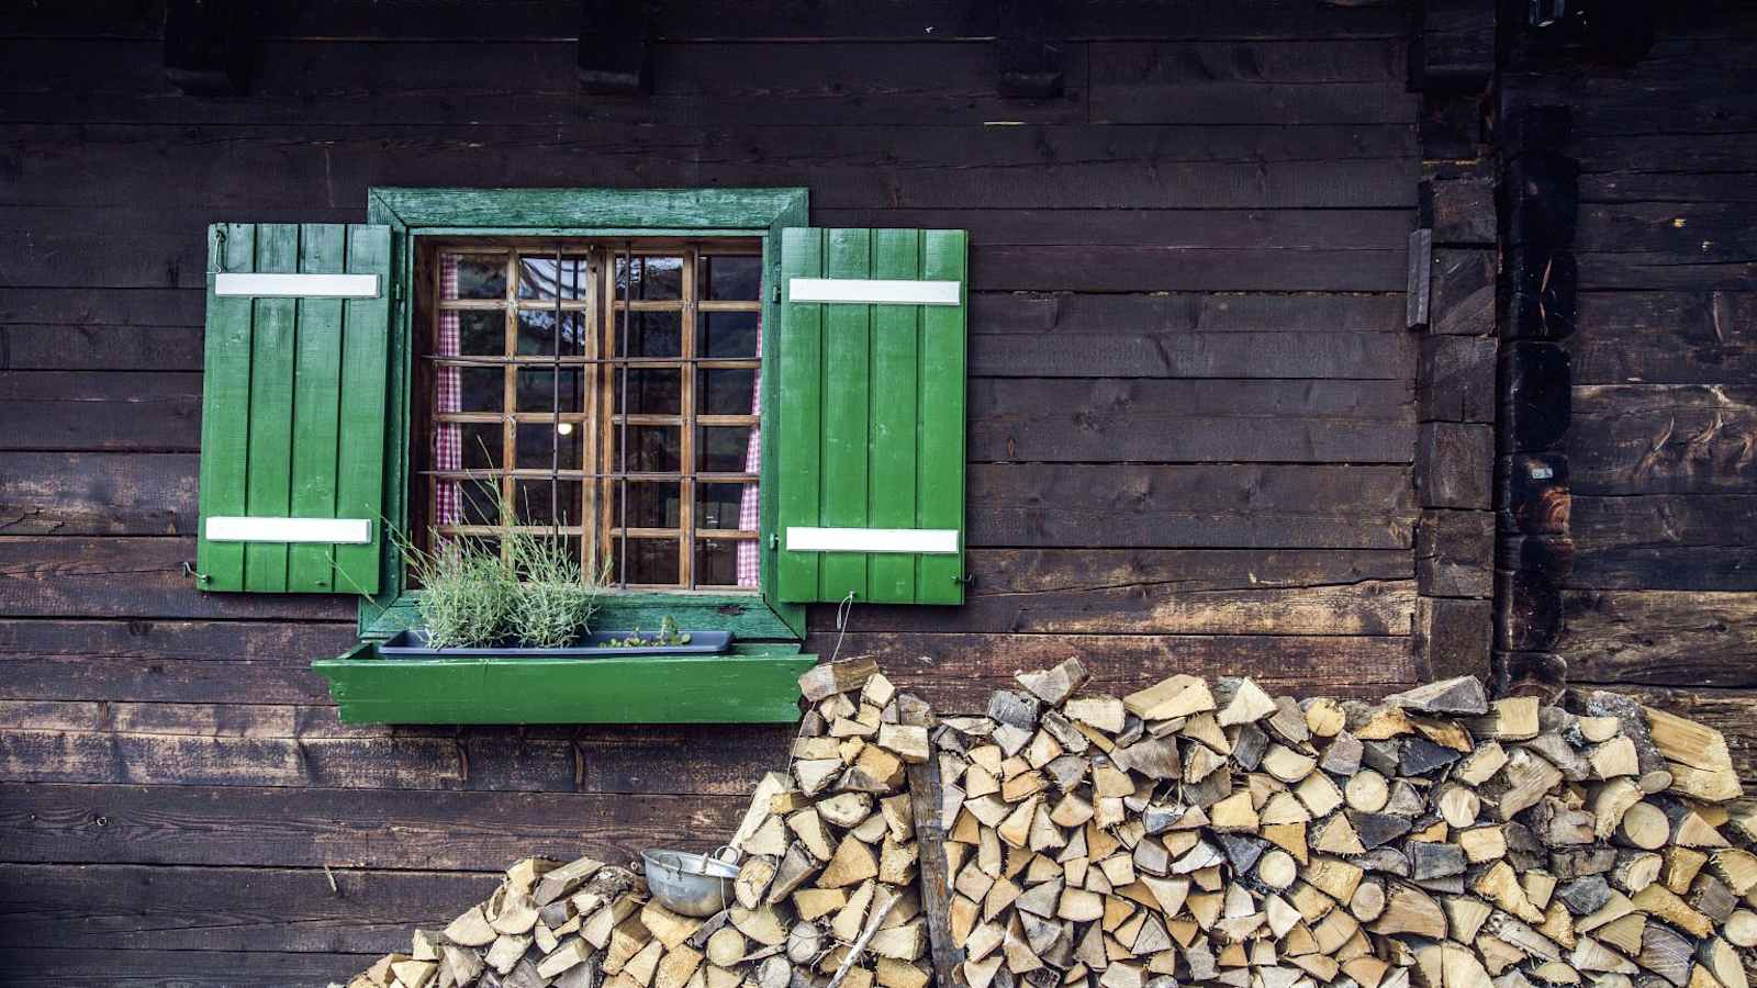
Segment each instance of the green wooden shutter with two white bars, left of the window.
[{"label": "green wooden shutter with two white bars, left of the window", "polygon": [[378,591],[388,331],[390,227],[209,227],[200,589]]}]

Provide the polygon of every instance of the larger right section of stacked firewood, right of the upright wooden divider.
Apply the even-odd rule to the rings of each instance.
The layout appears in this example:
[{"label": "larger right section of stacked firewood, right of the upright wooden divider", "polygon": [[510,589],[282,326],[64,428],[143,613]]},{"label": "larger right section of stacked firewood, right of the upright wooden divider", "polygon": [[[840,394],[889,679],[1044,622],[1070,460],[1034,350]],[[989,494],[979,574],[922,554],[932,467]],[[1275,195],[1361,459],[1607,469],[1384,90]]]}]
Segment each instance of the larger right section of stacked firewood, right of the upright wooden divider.
[{"label": "larger right section of stacked firewood, right of the upright wooden divider", "polygon": [[970,988],[1746,988],[1752,819],[1688,721],[1017,679],[935,738]]}]

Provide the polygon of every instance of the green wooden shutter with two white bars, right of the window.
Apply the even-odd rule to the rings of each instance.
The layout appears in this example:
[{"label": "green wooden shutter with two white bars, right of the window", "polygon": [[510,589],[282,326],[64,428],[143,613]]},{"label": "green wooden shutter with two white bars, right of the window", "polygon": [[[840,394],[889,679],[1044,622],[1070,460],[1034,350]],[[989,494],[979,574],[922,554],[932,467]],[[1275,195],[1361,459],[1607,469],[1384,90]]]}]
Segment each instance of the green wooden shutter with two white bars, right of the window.
[{"label": "green wooden shutter with two white bars, right of the window", "polygon": [[782,234],[777,599],[963,603],[965,248],[963,230]]}]

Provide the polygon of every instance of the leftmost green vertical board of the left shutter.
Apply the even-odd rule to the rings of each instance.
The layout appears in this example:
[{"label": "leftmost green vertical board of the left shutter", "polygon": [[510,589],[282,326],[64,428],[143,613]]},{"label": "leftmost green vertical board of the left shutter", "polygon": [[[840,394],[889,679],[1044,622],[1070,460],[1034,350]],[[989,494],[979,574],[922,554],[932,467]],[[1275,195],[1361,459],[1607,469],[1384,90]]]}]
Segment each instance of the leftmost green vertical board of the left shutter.
[{"label": "leftmost green vertical board of the left shutter", "polygon": [[[202,373],[200,517],[244,513],[244,462],[249,452],[249,316],[251,301],[216,297],[213,272],[248,272],[257,262],[257,227],[214,223],[207,229],[207,329]],[[197,585],[206,591],[244,589],[241,543],[195,543]]]}]

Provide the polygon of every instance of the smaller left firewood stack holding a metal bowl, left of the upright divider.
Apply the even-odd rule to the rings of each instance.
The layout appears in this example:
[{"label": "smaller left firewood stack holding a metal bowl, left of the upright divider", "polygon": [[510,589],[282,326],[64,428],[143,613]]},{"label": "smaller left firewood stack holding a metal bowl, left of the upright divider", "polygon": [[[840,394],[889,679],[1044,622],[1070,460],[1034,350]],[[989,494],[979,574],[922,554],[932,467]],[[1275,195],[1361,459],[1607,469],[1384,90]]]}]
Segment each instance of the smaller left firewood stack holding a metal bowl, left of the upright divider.
[{"label": "smaller left firewood stack holding a metal bowl, left of the upright divider", "polygon": [[819,666],[801,689],[791,772],[757,784],[729,842],[726,909],[682,916],[590,858],[524,860],[350,988],[924,988],[908,772],[928,763],[931,716],[871,661]]}]

